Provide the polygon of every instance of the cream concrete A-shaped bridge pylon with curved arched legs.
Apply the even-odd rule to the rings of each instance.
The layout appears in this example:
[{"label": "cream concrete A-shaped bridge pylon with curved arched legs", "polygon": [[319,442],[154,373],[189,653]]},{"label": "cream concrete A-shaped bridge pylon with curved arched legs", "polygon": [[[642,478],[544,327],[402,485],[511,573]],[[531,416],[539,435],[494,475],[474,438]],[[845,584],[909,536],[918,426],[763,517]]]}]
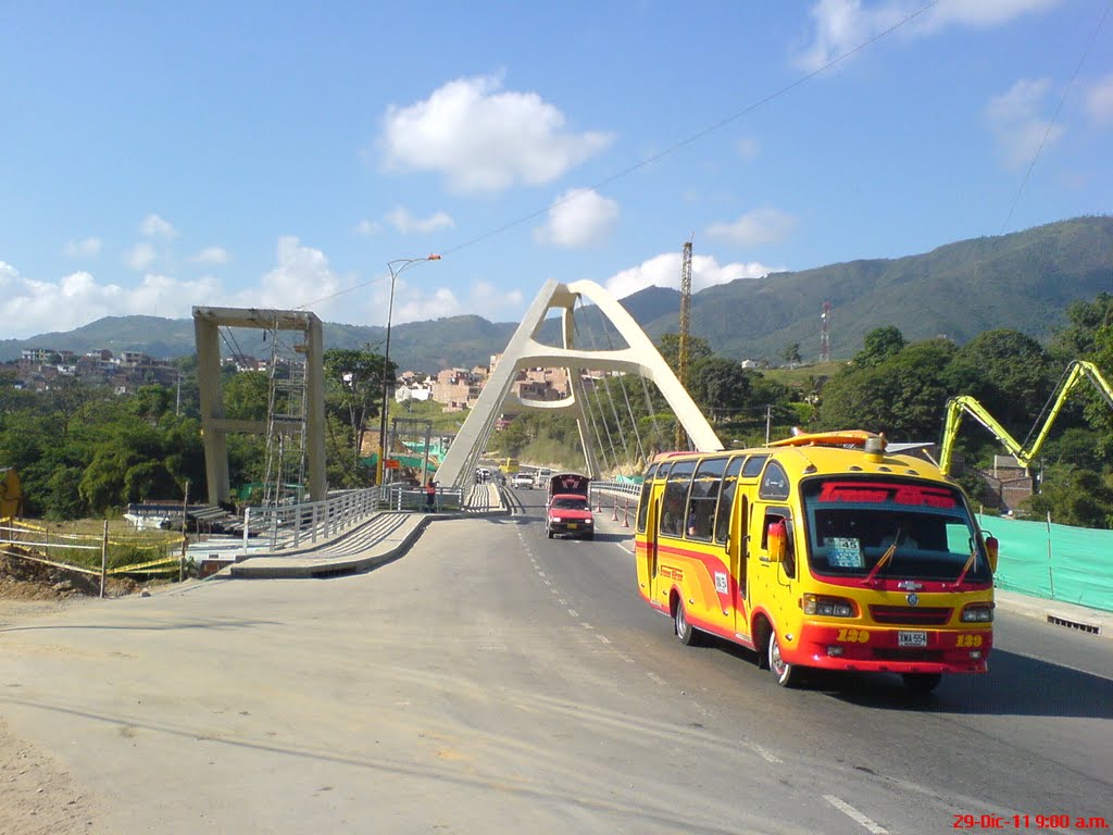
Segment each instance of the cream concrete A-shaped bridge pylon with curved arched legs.
[{"label": "cream concrete A-shaped bridge pylon with curved arched legs", "polygon": [[[627,347],[601,351],[575,346],[572,314],[581,298],[595,304],[599,312],[626,340]],[[561,312],[561,347],[544,345],[536,338],[552,310]],[[514,394],[513,384],[518,372],[532,367],[568,370],[571,395],[559,401],[538,401]],[[500,416],[508,412],[525,411],[571,413],[580,431],[588,474],[599,478],[601,473],[595,443],[584,407],[587,399],[583,371],[621,371],[652,381],[697,450],[710,452],[722,449],[715,430],[661,357],[657,346],[617,298],[594,282],[563,284],[551,279],[541,288],[522,317],[502,360],[441,462],[436,471],[437,481],[445,487],[462,487],[470,482]]]}]

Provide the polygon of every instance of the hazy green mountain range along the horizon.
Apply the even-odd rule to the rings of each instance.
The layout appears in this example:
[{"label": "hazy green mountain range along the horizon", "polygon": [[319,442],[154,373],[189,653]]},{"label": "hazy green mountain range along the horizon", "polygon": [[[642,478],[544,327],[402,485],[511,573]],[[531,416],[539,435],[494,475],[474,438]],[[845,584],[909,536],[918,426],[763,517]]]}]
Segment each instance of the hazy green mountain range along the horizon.
[{"label": "hazy green mountain range along the horizon", "polygon": [[[998,327],[1043,341],[1065,323],[1072,302],[1090,301],[1101,292],[1113,292],[1113,217],[1077,217],[961,240],[922,255],[831,264],[708,287],[692,295],[691,333],[707,340],[717,354],[737,360],[776,361],[787,346],[798,344],[804,360],[811,361],[819,356],[820,313],[830,302],[834,358],[853,356],[866,333],[886,325],[896,325],[908,341],[943,335],[964,343]],[[654,340],[678,330],[677,291],[650,287],[622,304]],[[591,308],[583,321],[597,340],[605,337],[598,317],[592,325]],[[391,357],[403,370],[427,372],[485,365],[516,327],[481,316],[395,325]],[[545,333],[546,342],[555,341],[555,321],[546,323]],[[324,327],[326,348],[371,345],[381,351],[385,335],[380,326]],[[268,353],[258,331],[235,330],[229,338],[240,353]],[[0,361],[18,358],[29,347],[176,357],[194,353],[194,325],[188,318],[108,316],[65,333],[2,340]]]}]

